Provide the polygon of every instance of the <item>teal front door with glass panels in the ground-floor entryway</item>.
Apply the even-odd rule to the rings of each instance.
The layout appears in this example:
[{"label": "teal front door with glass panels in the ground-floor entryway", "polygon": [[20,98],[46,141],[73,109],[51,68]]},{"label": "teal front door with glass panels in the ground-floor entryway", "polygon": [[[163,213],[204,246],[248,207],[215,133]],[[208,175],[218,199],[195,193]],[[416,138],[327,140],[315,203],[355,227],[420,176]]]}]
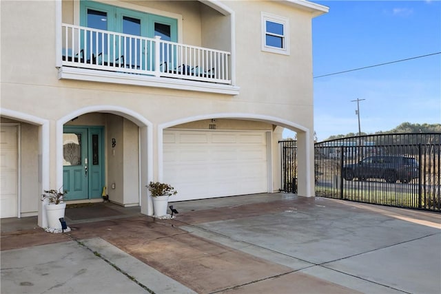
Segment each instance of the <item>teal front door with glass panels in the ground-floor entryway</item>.
[{"label": "teal front door with glass panels in the ground-floor entryway", "polygon": [[67,200],[101,198],[104,183],[103,127],[65,126],[63,190]]}]

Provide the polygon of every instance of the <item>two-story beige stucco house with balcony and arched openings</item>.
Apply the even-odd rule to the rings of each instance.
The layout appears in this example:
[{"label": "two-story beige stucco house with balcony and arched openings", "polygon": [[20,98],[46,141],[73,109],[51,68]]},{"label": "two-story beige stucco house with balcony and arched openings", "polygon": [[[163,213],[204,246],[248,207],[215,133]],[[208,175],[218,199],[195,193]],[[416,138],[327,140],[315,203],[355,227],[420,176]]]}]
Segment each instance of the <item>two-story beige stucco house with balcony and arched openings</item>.
[{"label": "two-story beige stucco house with balcony and arched openings", "polygon": [[287,1],[1,1],[1,217],[41,193],[141,206],[278,191],[297,133],[298,194],[314,196],[311,19]]}]

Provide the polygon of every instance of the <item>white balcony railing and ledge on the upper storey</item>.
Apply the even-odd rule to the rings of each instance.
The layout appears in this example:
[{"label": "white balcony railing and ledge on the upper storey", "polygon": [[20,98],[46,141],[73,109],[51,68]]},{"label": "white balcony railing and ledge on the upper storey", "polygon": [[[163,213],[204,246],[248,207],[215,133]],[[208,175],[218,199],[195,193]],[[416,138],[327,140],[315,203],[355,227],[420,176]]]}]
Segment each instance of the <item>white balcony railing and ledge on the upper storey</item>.
[{"label": "white balcony railing and ledge on the upper storey", "polygon": [[231,53],[62,24],[59,78],[238,94]]}]

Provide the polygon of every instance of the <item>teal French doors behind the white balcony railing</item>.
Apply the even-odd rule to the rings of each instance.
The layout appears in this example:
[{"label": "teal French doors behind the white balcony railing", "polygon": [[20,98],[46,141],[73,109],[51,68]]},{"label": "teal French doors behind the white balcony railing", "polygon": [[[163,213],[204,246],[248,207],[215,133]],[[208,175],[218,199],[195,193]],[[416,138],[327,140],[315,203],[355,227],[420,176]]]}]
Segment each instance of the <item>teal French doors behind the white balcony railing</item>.
[{"label": "teal French doors behind the white balcony railing", "polygon": [[[96,28],[99,30],[108,30],[110,32],[121,32],[123,34],[132,36],[161,36],[161,40],[174,41],[178,40],[178,21],[170,17],[163,17],[161,15],[130,10],[126,8],[110,6],[104,3],[97,3],[95,1],[81,1],[80,2],[80,25],[88,28]],[[96,55],[97,63],[102,64],[103,61],[110,60],[111,63],[121,63],[123,59],[124,67],[154,70],[150,58],[148,56],[150,44],[146,41],[139,41],[130,36],[122,36],[115,38],[110,35],[107,40],[107,35],[88,34],[84,42],[92,43],[90,49],[86,50],[87,59],[91,59],[92,54]],[[107,43],[110,48],[107,48]],[[115,44],[115,48],[112,47]],[[154,48],[152,54],[154,54]],[[147,54],[146,54],[147,52]],[[169,46],[161,48],[161,56],[168,56],[167,63],[174,59],[175,54],[168,54],[172,52]],[[101,57],[98,56],[101,54]],[[110,56],[110,59],[107,58]],[[115,56],[115,60],[113,59]],[[146,62],[147,58],[147,62]],[[119,59],[119,61],[116,61]],[[152,59],[153,60],[153,59]],[[164,60],[161,57],[161,63]]]}]

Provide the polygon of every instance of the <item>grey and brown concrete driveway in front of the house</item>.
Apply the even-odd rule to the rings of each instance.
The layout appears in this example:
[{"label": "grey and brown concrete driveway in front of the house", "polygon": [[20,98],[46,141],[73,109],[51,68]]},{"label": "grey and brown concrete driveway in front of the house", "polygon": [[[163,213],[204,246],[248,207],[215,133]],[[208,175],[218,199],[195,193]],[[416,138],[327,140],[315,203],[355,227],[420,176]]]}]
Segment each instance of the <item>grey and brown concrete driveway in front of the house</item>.
[{"label": "grey and brown concrete driveway in front of the house", "polygon": [[76,208],[65,234],[1,220],[1,293],[441,293],[440,213],[286,193],[172,204],[173,220]]}]

